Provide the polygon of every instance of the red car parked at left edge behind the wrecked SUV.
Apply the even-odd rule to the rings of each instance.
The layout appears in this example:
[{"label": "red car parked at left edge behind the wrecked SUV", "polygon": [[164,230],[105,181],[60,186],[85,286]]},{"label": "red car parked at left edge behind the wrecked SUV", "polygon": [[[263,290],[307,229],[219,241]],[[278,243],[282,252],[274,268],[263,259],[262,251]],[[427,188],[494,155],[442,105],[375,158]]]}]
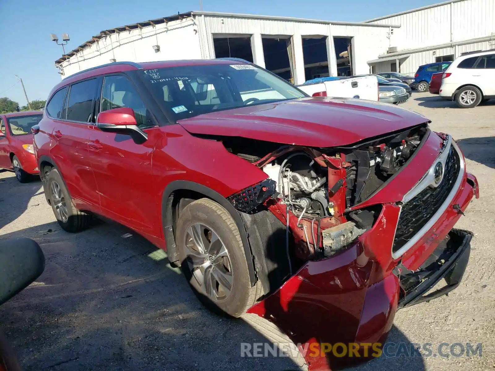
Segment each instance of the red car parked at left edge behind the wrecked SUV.
[{"label": "red car parked at left edge behind the wrecked SUV", "polygon": [[43,117],[42,111],[0,114],[0,168],[13,170],[21,183],[38,175],[31,127]]}]

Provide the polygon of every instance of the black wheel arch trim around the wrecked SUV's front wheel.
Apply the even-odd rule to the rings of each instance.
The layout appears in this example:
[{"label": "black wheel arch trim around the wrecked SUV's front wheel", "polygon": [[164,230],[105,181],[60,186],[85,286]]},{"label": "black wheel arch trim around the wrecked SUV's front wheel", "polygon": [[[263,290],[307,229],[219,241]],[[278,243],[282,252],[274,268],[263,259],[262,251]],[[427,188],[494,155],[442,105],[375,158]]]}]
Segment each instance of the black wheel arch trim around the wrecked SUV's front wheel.
[{"label": "black wheel arch trim around the wrecked SUV's front wheel", "polygon": [[[192,198],[193,197],[193,198]],[[190,181],[174,181],[168,184],[162,195],[161,204],[161,217],[163,235],[165,237],[165,244],[167,249],[167,255],[170,262],[175,263],[179,260],[179,252],[175,241],[175,224],[176,224],[176,211],[179,207],[181,199],[199,199],[210,198],[224,207],[234,219],[234,222],[241,234],[241,240],[243,241],[244,253],[246,255],[247,269],[249,272],[249,280],[251,286],[256,283],[256,274],[254,271],[253,256],[251,253],[251,247],[247,238],[247,232],[243,219],[232,204],[227,201],[220,193],[208,188],[204,185],[190,182]]]}]

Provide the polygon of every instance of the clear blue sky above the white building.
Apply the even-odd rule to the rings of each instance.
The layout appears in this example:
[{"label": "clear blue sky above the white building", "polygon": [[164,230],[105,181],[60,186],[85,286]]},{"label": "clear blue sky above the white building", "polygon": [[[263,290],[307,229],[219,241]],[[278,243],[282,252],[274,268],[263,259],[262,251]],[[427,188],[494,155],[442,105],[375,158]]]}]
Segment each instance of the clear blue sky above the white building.
[{"label": "clear blue sky above the white building", "polygon": [[[440,1],[203,0],[203,10],[355,22],[436,2]],[[69,51],[101,30],[198,9],[199,0],[0,0],[0,97],[26,104],[14,76],[19,75],[30,100],[47,98],[60,81],[53,62],[62,55],[62,47],[50,41],[51,33],[68,33]]]}]

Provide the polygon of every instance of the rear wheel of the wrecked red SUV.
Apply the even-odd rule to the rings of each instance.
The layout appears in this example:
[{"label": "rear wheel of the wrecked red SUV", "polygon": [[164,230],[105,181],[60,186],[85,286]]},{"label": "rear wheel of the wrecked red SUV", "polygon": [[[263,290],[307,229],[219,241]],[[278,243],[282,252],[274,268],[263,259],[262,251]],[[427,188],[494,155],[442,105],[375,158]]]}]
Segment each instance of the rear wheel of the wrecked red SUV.
[{"label": "rear wheel of the wrecked red SUV", "polygon": [[91,215],[79,211],[56,169],[51,169],[47,179],[48,198],[57,222],[66,232],[79,232],[88,228]]}]

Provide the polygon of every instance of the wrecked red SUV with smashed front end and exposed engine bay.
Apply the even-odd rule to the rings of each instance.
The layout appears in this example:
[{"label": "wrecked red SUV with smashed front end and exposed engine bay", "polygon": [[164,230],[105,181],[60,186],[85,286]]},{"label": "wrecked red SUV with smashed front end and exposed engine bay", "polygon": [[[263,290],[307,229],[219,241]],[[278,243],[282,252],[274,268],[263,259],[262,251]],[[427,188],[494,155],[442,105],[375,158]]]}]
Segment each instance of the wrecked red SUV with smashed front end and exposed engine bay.
[{"label": "wrecked red SUV with smashed front end and exposed engine bay", "polygon": [[64,230],[93,215],[133,229],[212,310],[317,343],[317,370],[341,360],[319,344],[383,343],[397,309],[464,273],[472,234],[453,227],[478,183],[428,123],[222,59],[79,72],[33,131]]}]

